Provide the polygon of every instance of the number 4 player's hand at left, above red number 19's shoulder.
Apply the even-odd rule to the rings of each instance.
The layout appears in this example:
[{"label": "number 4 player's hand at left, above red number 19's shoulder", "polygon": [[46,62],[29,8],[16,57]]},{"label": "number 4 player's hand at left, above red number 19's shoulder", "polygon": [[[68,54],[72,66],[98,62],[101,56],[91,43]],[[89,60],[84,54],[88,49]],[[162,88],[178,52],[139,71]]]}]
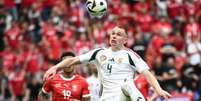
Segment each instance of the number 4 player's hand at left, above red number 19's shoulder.
[{"label": "number 4 player's hand at left, above red number 19's shoulder", "polygon": [[55,74],[56,74],[56,72],[57,72],[57,67],[51,67],[51,68],[49,68],[49,69],[45,72],[45,74],[44,74],[44,76],[43,76],[43,80],[45,81],[45,80],[47,80],[47,79],[50,79],[50,78],[54,77]]}]

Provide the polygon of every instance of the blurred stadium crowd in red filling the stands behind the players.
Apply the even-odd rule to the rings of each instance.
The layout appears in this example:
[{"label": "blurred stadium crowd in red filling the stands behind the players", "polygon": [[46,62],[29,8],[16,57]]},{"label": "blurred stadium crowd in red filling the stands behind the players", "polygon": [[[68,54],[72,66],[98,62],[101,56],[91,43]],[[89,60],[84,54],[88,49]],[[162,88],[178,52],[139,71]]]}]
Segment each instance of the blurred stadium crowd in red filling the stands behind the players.
[{"label": "blurred stadium crowd in red filling the stands behind the players", "polygon": [[[94,18],[85,0],[0,0],[0,101],[36,101],[44,72],[63,52],[107,47],[115,25],[126,27],[127,47],[148,63],[172,101],[201,101],[201,1],[107,2],[107,13]],[[87,78],[89,68],[77,73]]]}]

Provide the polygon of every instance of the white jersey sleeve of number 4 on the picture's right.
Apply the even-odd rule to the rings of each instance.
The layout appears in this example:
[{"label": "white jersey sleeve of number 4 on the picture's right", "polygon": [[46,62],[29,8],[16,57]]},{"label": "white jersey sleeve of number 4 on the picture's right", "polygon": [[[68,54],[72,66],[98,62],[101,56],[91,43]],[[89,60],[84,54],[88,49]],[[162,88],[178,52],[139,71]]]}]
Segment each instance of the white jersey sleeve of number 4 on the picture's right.
[{"label": "white jersey sleeve of number 4 on the picture's right", "polygon": [[147,63],[135,52],[128,53],[129,62],[137,72],[142,73],[144,70],[149,70]]}]

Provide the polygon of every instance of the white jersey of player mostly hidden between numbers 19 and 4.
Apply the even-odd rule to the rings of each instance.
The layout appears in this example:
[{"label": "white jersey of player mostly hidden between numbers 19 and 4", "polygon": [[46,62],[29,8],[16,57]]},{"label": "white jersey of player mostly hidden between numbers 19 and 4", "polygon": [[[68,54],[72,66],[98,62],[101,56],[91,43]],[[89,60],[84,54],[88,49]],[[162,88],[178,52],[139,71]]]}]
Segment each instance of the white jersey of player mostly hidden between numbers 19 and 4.
[{"label": "white jersey of player mostly hidden between numbers 19 and 4", "polygon": [[100,101],[100,80],[95,75],[91,75],[87,78],[87,82],[89,83],[91,101]]}]

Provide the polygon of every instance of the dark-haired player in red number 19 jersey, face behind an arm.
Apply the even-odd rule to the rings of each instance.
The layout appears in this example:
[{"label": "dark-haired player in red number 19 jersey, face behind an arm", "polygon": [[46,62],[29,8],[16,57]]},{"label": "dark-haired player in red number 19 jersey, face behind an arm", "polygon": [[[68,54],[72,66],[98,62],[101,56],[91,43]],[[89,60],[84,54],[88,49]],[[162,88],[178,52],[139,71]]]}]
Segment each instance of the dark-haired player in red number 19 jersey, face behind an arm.
[{"label": "dark-haired player in red number 19 jersey, face behind an arm", "polygon": [[[62,60],[74,56],[72,52],[66,52]],[[52,92],[53,101],[90,101],[88,83],[83,77],[75,75],[74,66],[63,69],[45,81],[39,93],[39,101],[45,101],[49,92]]]}]

